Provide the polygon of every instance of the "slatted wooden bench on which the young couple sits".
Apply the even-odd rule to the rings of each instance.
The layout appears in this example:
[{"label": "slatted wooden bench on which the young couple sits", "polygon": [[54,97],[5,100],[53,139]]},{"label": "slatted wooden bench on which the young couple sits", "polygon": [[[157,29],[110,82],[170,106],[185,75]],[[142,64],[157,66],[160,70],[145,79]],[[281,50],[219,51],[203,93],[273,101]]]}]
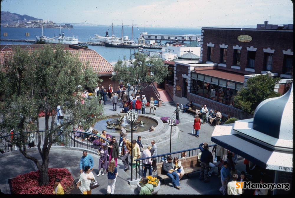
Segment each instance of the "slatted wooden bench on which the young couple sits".
[{"label": "slatted wooden bench on which the young couple sits", "polygon": [[[201,166],[197,164],[198,156],[190,156],[186,158],[179,159],[181,161],[181,166],[183,166],[184,174],[189,177],[189,173],[193,173],[201,170]],[[169,177],[166,174],[166,171],[163,170],[163,162],[156,163],[157,167],[157,175],[164,182],[164,179],[168,179]],[[189,179],[191,179],[189,177]],[[166,185],[166,184],[165,184]]]}]

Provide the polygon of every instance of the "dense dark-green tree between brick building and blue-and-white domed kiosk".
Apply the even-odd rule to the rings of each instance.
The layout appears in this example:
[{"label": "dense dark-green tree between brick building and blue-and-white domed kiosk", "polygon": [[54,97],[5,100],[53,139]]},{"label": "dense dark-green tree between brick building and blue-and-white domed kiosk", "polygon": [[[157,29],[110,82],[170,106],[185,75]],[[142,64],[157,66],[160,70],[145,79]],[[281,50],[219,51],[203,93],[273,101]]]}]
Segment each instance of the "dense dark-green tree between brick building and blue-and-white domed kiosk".
[{"label": "dense dark-green tree between brick building and blue-and-white domed kiosk", "polygon": [[280,78],[270,78],[268,75],[257,75],[249,78],[247,86],[234,96],[235,106],[245,113],[254,114],[256,107],[263,100],[281,95],[273,91],[279,81]]}]

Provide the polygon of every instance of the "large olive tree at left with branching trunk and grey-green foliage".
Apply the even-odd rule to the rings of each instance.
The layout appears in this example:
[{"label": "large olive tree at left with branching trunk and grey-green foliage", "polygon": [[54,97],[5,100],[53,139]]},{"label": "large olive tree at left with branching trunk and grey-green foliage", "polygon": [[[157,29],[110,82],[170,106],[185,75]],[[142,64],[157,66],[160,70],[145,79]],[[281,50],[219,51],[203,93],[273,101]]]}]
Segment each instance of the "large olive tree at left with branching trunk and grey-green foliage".
[{"label": "large olive tree at left with branching trunk and grey-green foliage", "polygon": [[[77,55],[64,51],[63,45],[44,45],[42,49],[15,48],[1,61],[0,135],[14,129],[11,141],[40,171],[40,185],[48,184],[50,148],[68,143],[73,126],[90,126],[103,119],[103,107],[96,99],[81,104],[81,88],[95,87],[97,74]],[[63,124],[55,125],[55,109],[62,105]],[[45,113],[45,132],[41,132],[39,112]],[[51,118],[51,119],[50,119]],[[42,119],[43,120],[43,119]],[[36,131],[41,161],[27,152],[27,132]],[[60,133],[63,138],[60,138]],[[42,141],[41,141],[42,139]],[[41,143],[42,142],[42,143]]]}]

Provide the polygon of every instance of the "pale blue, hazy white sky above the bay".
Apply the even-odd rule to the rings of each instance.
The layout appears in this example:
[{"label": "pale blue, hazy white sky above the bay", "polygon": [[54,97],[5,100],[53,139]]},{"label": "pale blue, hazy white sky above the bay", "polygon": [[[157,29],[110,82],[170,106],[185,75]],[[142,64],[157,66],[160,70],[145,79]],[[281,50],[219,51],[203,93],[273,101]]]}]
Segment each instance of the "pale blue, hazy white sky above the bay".
[{"label": "pale blue, hazy white sky above the bay", "polygon": [[3,0],[1,11],[55,23],[140,27],[247,27],[293,24],[291,0]]}]

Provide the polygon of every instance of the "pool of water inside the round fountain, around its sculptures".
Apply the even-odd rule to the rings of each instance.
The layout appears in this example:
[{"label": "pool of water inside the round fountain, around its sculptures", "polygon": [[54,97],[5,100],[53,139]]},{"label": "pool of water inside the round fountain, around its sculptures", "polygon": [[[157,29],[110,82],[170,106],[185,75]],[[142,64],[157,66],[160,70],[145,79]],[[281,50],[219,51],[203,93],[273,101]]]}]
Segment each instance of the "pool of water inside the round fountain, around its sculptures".
[{"label": "pool of water inside the round fountain, around its sculptures", "polygon": [[[126,115],[126,114],[122,114],[122,115]],[[94,124],[93,128],[98,131],[106,130],[106,133],[109,133],[109,134],[111,134],[111,133],[120,134],[121,130],[116,129],[115,127],[112,129],[109,129],[109,128],[107,128],[107,123],[106,123],[106,122],[110,122],[112,124],[112,123],[116,122],[117,119],[120,118],[120,116],[115,114],[115,115],[109,115],[107,117],[108,118],[106,120],[99,120],[98,122],[96,122]],[[153,126],[153,127],[158,126],[158,119],[154,119],[152,117],[145,116],[144,114],[138,114],[138,118],[136,121],[140,121],[140,120],[142,122],[144,122],[145,124],[140,125],[136,131],[133,130],[133,133],[145,132],[145,131],[148,131],[151,126]],[[131,122],[129,122],[127,119],[124,121],[124,123],[122,123],[122,126],[126,129],[131,130]],[[136,126],[136,124],[133,122],[133,128],[135,126]],[[127,133],[128,132],[130,132],[130,131],[127,131]]]}]

